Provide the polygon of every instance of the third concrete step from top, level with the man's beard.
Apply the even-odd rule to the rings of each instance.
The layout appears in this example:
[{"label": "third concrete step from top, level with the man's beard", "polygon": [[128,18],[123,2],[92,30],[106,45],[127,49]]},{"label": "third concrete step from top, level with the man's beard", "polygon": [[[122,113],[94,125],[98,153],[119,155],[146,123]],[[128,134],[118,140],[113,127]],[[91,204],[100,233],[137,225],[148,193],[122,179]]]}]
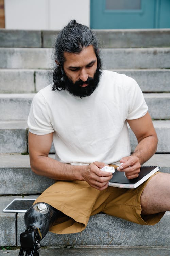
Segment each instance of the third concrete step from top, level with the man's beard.
[{"label": "third concrete step from top, level with the man's beard", "polygon": [[[170,92],[170,69],[113,71],[133,77],[143,92]],[[0,93],[32,93],[50,83],[52,83],[52,70],[0,69]]]}]

